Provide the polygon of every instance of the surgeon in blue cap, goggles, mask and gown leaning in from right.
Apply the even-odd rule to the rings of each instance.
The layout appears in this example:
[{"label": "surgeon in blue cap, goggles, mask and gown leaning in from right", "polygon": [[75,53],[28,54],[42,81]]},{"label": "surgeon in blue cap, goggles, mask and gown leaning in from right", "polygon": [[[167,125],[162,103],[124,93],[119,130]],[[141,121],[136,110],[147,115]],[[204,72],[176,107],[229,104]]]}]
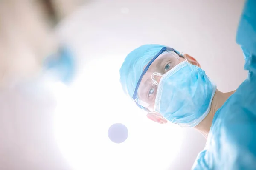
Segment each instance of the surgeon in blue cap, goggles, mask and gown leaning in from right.
[{"label": "surgeon in blue cap, goggles, mask and gown leaning in from right", "polygon": [[236,41],[248,77],[222,93],[199,63],[163,45],[143,45],[120,68],[122,88],[148,118],[194,127],[207,138],[195,170],[256,170],[256,1],[248,0]]}]

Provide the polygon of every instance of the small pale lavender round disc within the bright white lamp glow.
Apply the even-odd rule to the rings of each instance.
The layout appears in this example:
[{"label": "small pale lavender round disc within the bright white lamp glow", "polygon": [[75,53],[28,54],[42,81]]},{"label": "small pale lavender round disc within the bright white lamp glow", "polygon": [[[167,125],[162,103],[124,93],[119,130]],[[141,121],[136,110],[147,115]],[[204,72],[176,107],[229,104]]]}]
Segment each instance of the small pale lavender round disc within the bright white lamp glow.
[{"label": "small pale lavender round disc within the bright white lamp glow", "polygon": [[108,137],[114,143],[122,143],[128,137],[128,129],[122,123],[115,123],[108,129]]}]

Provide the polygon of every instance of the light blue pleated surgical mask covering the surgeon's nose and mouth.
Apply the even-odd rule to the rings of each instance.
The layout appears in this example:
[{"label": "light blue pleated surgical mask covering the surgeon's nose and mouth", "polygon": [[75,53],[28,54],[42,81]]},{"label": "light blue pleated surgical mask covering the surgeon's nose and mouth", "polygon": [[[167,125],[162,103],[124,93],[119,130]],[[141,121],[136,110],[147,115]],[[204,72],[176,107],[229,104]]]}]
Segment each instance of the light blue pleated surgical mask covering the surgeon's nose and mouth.
[{"label": "light blue pleated surgical mask covering the surgeon's nose and mouth", "polygon": [[154,108],[170,122],[194,127],[209,113],[215,91],[204,70],[184,61],[160,79]]}]

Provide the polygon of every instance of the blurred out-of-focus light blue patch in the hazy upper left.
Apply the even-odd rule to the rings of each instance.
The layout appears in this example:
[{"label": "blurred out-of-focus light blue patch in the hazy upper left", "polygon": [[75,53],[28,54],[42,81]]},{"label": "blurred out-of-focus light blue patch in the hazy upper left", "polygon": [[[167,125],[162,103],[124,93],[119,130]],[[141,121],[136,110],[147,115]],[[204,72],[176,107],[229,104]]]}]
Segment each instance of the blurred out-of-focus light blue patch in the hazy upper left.
[{"label": "blurred out-of-focus light blue patch in the hazy upper left", "polygon": [[70,49],[61,47],[58,54],[49,56],[44,62],[44,68],[53,74],[55,79],[69,84],[75,74],[75,59]]}]

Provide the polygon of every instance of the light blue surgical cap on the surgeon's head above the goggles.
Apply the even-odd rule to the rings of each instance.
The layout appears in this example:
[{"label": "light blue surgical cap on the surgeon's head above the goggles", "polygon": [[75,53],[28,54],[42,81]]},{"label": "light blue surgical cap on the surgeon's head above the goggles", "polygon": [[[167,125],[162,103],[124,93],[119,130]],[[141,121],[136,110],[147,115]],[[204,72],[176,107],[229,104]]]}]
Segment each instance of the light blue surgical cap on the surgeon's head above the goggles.
[{"label": "light blue surgical cap on the surgeon's head above the goggles", "polygon": [[131,98],[144,67],[157,55],[164,45],[142,45],[131,51],[120,68],[120,82],[125,94]]}]

